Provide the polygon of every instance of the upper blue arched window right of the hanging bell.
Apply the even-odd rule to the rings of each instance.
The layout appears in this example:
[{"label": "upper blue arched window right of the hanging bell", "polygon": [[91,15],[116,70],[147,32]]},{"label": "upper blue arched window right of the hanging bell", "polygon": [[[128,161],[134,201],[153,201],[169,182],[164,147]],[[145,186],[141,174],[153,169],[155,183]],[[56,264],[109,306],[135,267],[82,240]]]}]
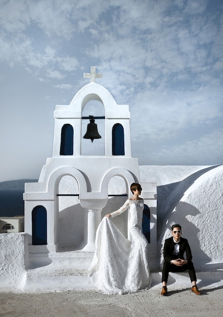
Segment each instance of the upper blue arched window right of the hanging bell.
[{"label": "upper blue arched window right of the hanging bell", "polygon": [[113,155],[125,155],[124,129],[119,123],[113,127]]}]

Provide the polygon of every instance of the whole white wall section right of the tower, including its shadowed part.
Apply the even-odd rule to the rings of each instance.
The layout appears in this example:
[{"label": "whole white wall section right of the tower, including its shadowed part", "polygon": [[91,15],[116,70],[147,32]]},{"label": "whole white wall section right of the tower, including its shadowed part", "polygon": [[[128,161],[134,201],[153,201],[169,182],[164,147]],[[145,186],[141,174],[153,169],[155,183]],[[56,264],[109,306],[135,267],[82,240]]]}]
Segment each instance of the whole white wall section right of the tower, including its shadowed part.
[{"label": "whole white wall section right of the tower, including its shadowed part", "polygon": [[141,180],[157,183],[157,267],[173,224],[191,246],[196,270],[223,268],[223,165],[141,166]]}]

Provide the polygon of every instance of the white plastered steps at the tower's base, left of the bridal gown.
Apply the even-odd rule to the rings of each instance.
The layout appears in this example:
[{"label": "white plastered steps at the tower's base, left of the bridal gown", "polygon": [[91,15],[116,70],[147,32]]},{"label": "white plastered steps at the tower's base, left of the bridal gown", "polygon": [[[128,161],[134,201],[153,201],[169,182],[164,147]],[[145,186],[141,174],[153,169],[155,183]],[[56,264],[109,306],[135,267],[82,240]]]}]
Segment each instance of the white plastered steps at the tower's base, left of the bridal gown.
[{"label": "white plastered steps at the tower's base, left of the bridal gown", "polygon": [[30,254],[20,288],[43,292],[95,289],[87,271],[93,255],[82,251]]}]

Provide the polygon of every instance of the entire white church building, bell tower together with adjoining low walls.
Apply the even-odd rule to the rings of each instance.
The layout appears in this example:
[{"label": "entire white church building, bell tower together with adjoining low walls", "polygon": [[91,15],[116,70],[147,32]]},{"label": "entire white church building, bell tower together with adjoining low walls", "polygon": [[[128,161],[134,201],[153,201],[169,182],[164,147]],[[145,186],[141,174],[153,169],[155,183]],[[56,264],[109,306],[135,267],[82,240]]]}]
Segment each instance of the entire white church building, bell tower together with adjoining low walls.
[{"label": "entire white church building, bell tower together with adjoining low walls", "polygon": [[[91,67],[84,74],[90,83],[69,105],[55,107],[52,157],[46,159],[38,182],[25,185],[25,230],[0,236],[0,281],[5,285],[22,290],[93,289],[87,269],[97,226],[131,196],[133,182],[143,188],[143,232],[151,271],[160,273],[162,243],[173,223],[182,225],[197,271],[222,271],[223,243],[216,246],[212,229],[222,236],[223,167],[139,166],[131,155],[129,106],[117,104],[95,83],[101,76]],[[103,105],[100,116],[83,114],[92,101]],[[98,122],[103,122],[103,133],[97,131]],[[94,147],[99,133],[104,136],[103,155],[83,154],[83,139]],[[128,212],[113,221],[128,236]]]}]

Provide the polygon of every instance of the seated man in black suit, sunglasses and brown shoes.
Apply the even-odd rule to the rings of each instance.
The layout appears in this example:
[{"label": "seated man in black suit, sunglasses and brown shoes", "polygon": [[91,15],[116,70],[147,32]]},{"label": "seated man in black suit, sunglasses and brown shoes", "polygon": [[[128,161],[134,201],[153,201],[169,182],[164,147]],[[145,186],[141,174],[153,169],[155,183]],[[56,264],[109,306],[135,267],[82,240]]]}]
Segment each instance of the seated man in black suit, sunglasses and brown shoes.
[{"label": "seated man in black suit, sunglasses and brown shoes", "polygon": [[[162,291],[161,295],[167,294],[166,283],[168,282],[169,272],[184,272],[188,270],[192,283],[191,291],[197,295],[201,293],[196,286],[196,273],[192,260],[191,248],[187,239],[181,237],[182,231],[179,224],[172,226],[172,237],[165,240],[163,249],[163,269],[162,269]],[[184,253],[186,252],[186,260]]]}]

